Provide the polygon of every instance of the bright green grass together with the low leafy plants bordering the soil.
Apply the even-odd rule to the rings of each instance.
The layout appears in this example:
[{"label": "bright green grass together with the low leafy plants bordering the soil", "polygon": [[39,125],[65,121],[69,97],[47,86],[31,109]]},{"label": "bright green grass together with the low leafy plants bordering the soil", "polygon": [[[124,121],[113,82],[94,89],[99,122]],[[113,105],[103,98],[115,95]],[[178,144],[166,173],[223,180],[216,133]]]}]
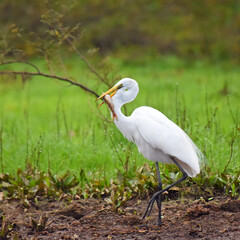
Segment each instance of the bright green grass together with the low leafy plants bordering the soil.
[{"label": "bright green grass together with the low leafy plants bordering the soil", "polygon": [[[202,174],[186,185],[197,183],[191,194],[224,191],[237,196],[238,68],[204,62],[189,65],[174,57],[155,59],[154,64],[144,59],[131,64],[111,61],[118,61],[124,76],[139,81],[141,91],[128,104],[128,114],[140,105],[153,106],[185,129],[203,151],[207,160]],[[79,71],[76,75],[88,74],[78,65],[77,60],[66,64]],[[120,206],[131,196],[146,196],[157,187],[154,164],[146,162],[108,121],[106,107],[100,109],[106,119],[100,115],[95,98],[48,79],[24,84],[11,79],[2,79],[7,84],[1,84],[1,170],[5,173],[1,184],[8,196],[25,201],[26,196],[77,193],[108,197]],[[98,92],[106,90],[96,87]],[[178,177],[173,166],[161,169],[165,184]]]}]

